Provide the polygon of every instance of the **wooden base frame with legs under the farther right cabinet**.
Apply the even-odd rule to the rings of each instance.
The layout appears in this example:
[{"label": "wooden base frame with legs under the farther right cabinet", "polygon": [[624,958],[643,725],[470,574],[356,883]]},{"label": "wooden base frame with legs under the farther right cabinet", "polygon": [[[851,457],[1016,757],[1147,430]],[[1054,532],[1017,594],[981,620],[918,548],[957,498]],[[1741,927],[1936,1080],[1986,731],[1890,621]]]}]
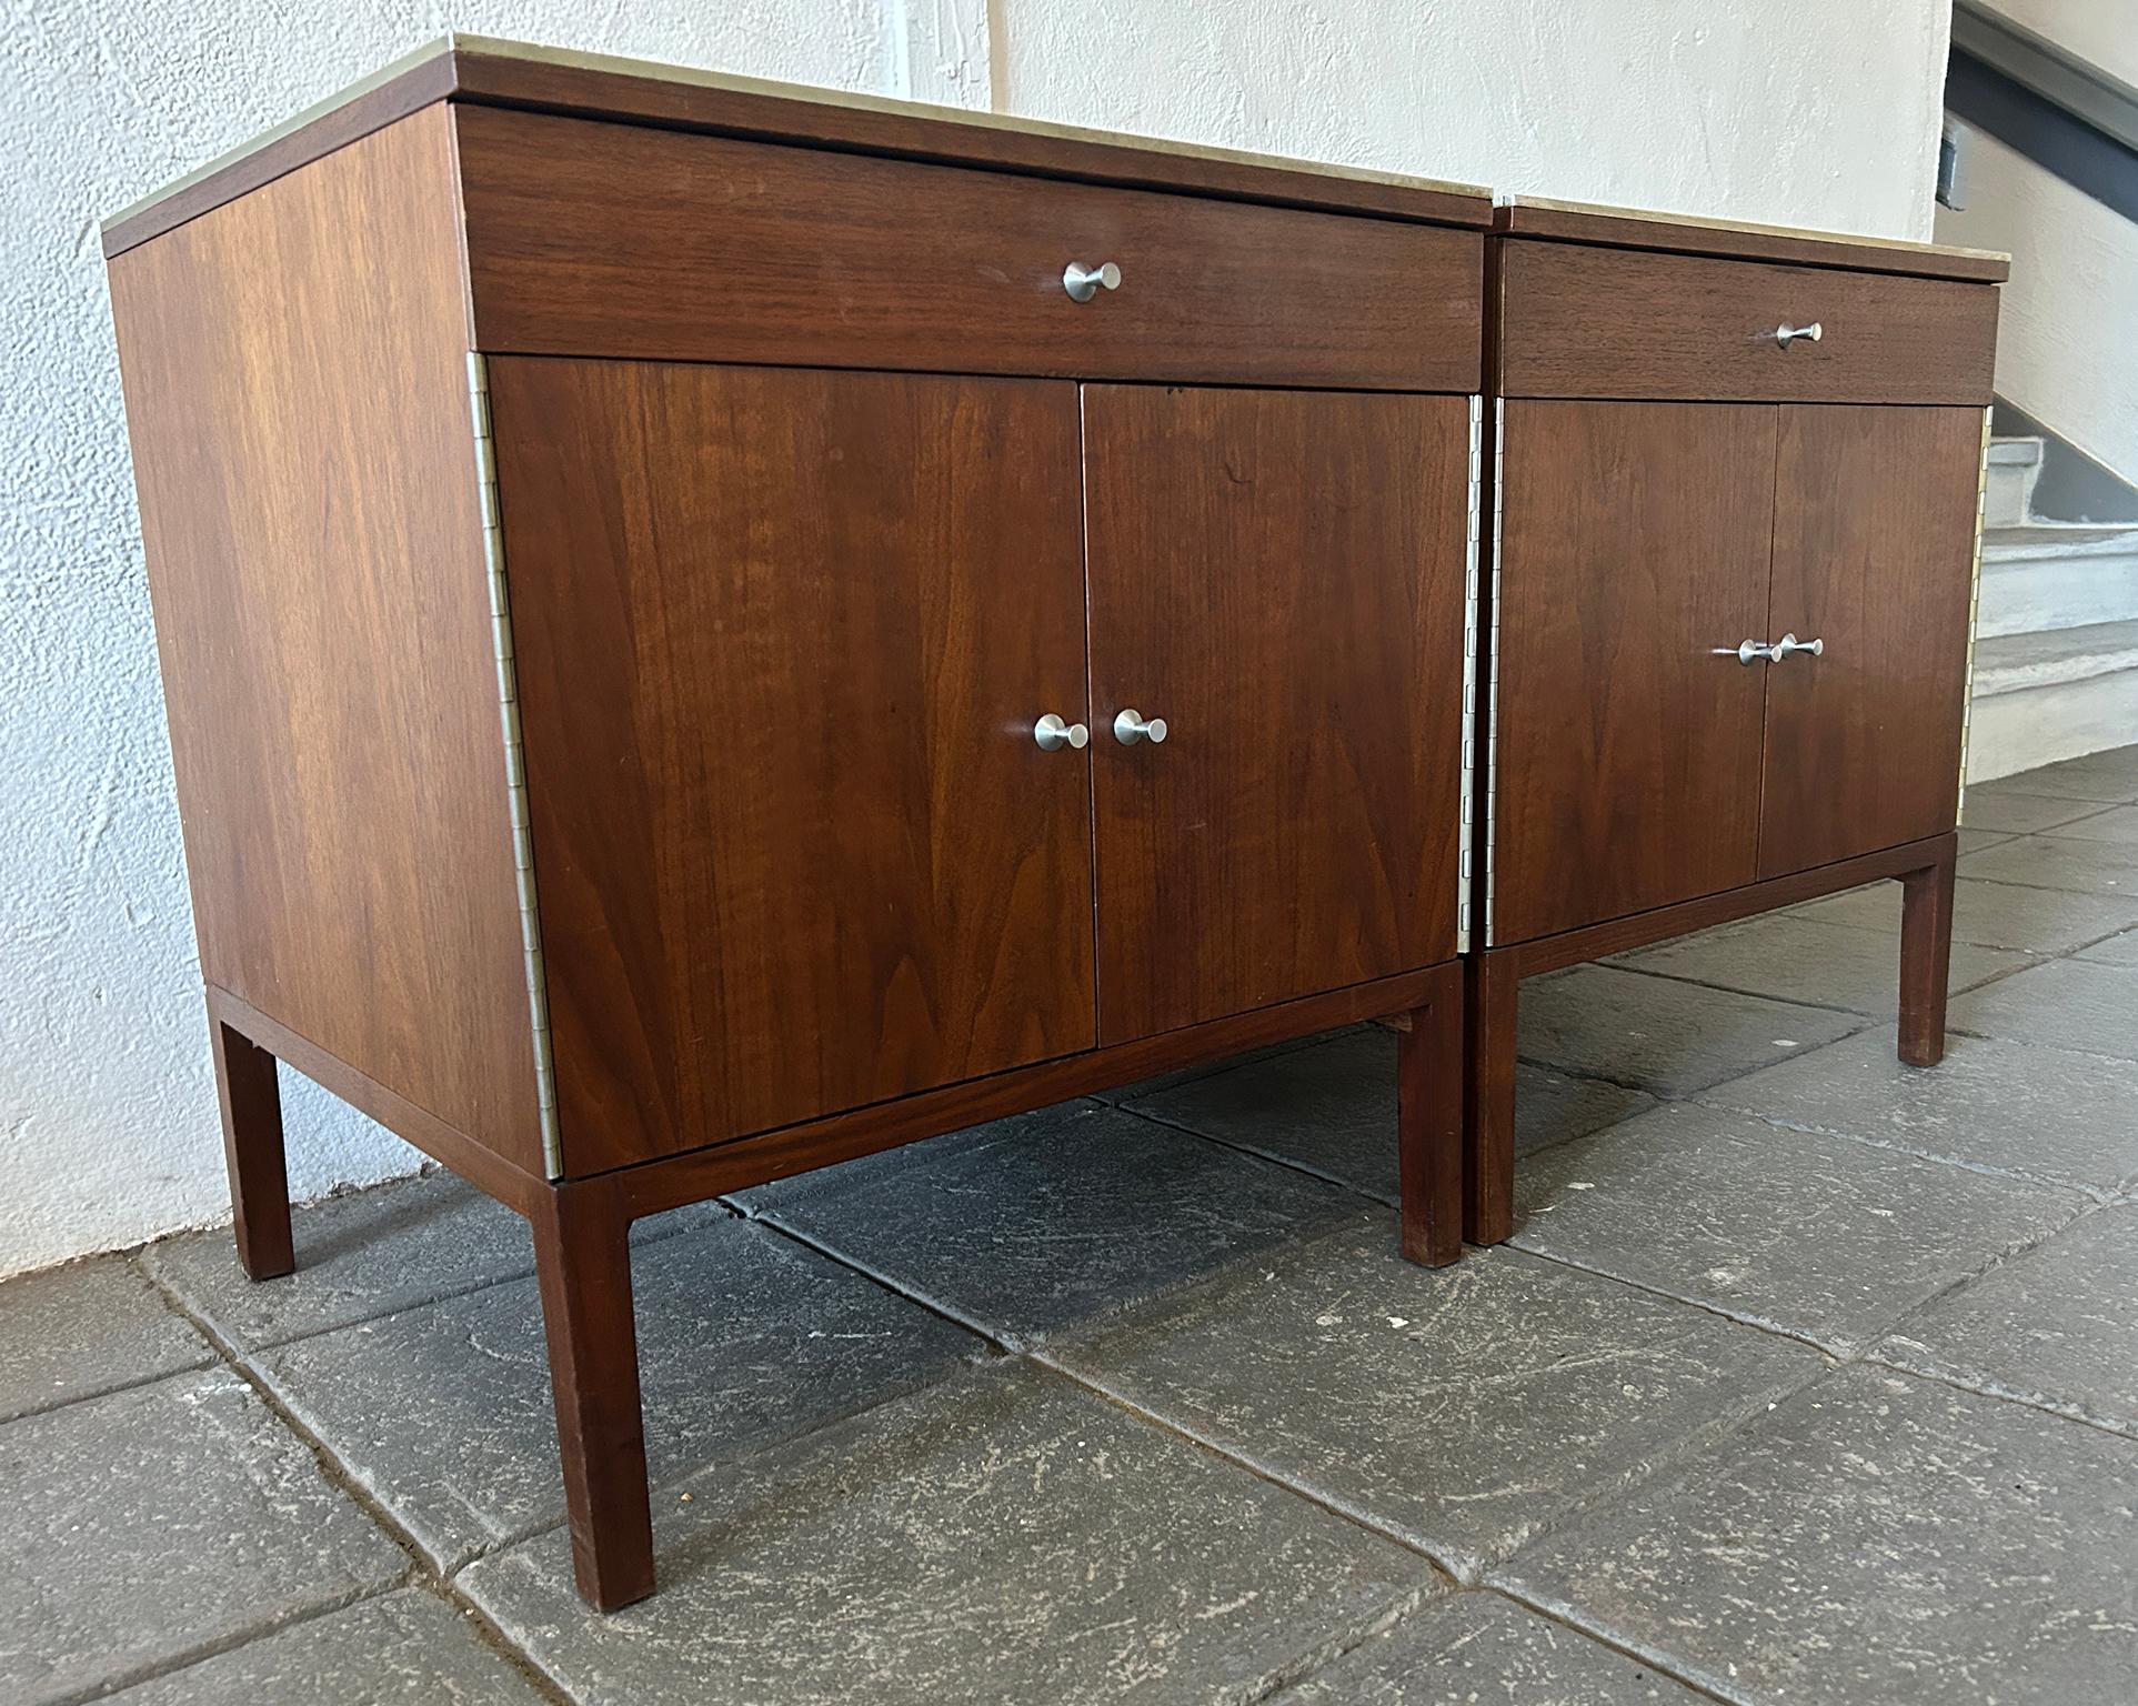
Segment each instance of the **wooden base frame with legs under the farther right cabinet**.
[{"label": "wooden base frame with legs under the farther right cabinet", "polygon": [[1471,1244],[1499,1244],[1514,1234],[1514,1026],[1524,977],[1899,877],[1905,889],[1899,1054],[1911,1067],[1935,1067],[1946,1054],[1956,857],[1958,832],[1946,832],[1700,900],[1471,953],[1462,966],[1462,1236]]}]

